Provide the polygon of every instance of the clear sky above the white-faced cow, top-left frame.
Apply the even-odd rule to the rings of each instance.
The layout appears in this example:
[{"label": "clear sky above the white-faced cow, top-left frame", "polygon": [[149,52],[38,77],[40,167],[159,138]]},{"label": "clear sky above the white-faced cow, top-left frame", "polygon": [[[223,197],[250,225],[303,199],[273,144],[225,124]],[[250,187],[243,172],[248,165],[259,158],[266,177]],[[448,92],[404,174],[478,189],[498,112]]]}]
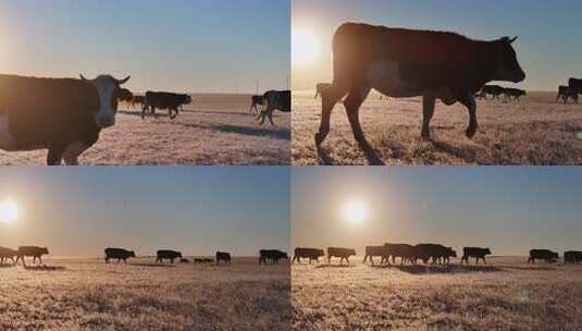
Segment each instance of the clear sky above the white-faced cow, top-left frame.
[{"label": "clear sky above the white-faced cow, top-left frame", "polygon": [[0,1],[0,73],[253,93],[285,87],[289,49],[289,0]]}]

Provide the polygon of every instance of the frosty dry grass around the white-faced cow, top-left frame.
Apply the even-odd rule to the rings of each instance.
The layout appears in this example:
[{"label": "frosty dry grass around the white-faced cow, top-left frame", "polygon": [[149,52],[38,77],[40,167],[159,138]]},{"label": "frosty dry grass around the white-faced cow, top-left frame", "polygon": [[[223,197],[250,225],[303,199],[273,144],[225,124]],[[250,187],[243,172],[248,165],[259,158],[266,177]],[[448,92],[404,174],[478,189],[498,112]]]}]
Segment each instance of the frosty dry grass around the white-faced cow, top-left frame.
[{"label": "frosty dry grass around the white-faced cow, top-left frame", "polygon": [[[259,126],[247,95],[193,95],[175,120],[166,111],[145,121],[140,110],[121,105],[116,124],[85,151],[82,164],[289,164],[290,115]],[[44,164],[46,150],[7,152],[0,164]]]}]

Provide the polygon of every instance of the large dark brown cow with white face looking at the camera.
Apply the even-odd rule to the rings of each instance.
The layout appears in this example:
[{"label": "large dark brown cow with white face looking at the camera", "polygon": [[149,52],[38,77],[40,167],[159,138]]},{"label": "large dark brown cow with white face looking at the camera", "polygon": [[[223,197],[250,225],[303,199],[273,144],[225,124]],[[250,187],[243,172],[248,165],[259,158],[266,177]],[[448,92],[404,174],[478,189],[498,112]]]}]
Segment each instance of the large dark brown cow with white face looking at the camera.
[{"label": "large dark brown cow with white face looking at the camera", "polygon": [[78,157],[115,124],[120,86],[129,79],[0,75],[0,149],[48,149],[47,164]]}]

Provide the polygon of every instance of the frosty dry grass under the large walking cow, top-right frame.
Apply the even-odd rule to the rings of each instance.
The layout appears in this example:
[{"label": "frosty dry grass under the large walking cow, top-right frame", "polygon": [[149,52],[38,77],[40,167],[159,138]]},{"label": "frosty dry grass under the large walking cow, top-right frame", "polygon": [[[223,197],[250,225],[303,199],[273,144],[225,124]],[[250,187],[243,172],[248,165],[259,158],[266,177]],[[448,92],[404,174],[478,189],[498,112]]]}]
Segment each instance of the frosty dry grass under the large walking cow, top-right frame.
[{"label": "frosty dry grass under the large walking cow, top-right frame", "polygon": [[[360,111],[363,132],[385,164],[581,164],[582,105],[555,103],[554,93],[530,93],[520,102],[478,101],[480,131],[468,139],[469,115],[461,105],[437,102],[431,122],[433,142],[420,138],[420,98],[384,99],[371,95]],[[368,164],[355,142],[343,105],[332,114],[332,130],[320,151],[313,135],[321,100],[294,94],[293,163]]]}]

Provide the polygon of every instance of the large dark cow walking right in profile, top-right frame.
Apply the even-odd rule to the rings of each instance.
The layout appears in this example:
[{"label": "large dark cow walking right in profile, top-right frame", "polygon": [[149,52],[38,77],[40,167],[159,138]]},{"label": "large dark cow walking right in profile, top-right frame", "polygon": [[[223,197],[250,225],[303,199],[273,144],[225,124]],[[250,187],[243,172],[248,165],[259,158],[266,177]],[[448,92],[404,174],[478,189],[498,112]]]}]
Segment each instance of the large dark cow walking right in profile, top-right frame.
[{"label": "large dark cow walking right in profile, top-right frame", "polygon": [[469,110],[466,135],[473,137],[478,128],[473,95],[491,81],[525,79],[511,46],[516,39],[481,41],[454,33],[343,24],[333,40],[334,77],[332,86],[322,93],[315,145],[320,146],[330,133],[332,110],[347,95],[344,106],[354,137],[360,147],[369,149],[358,113],[372,88],[395,98],[422,96],[421,136],[425,139],[430,139],[436,99],[447,106],[460,102]]}]

